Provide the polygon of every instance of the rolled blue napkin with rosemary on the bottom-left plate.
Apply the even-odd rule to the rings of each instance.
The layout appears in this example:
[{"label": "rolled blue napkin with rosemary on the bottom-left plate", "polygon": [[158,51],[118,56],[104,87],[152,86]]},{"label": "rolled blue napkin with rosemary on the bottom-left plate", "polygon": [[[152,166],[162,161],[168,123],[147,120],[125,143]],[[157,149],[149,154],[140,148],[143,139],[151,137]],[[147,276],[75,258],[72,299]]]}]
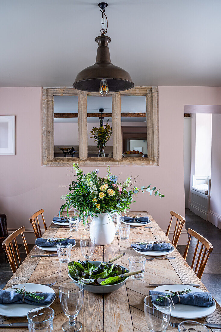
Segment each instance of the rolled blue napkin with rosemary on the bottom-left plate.
[{"label": "rolled blue napkin with rosemary on the bottom-left plate", "polygon": [[[15,288],[15,287],[14,287]],[[36,291],[36,295],[40,297],[44,297],[42,300],[34,299],[33,297],[29,297],[24,295],[25,303],[38,305],[39,304],[49,304],[55,298],[55,293],[38,293]],[[14,290],[0,290],[0,303],[24,303],[22,294],[16,293]]]}]

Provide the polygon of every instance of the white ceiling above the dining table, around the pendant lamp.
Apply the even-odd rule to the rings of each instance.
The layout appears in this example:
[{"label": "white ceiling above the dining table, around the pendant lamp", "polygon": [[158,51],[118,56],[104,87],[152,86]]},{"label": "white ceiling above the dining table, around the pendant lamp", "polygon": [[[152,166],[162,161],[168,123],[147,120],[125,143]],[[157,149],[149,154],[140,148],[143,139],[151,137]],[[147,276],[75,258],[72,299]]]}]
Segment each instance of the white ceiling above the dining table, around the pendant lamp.
[{"label": "white ceiling above the dining table, around the pendant lamp", "polygon": [[[95,0],[0,0],[0,86],[72,86],[93,64]],[[109,0],[112,63],[135,85],[221,86],[220,0]]]}]

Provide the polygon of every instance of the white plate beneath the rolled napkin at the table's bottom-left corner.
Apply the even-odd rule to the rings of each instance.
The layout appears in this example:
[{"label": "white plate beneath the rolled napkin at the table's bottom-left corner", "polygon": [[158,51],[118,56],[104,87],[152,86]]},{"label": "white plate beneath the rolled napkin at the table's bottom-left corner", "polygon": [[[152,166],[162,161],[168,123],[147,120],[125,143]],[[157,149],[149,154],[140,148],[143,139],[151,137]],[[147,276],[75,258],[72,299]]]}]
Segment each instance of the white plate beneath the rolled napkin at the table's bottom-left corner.
[{"label": "white plate beneath the rolled napkin at the table's bottom-left corner", "polygon": [[[41,291],[41,292],[48,292],[48,293],[55,293],[55,291],[44,285],[40,284],[18,284],[16,285],[18,288],[23,288],[25,286],[26,291]],[[13,286],[13,288],[16,288],[16,286]],[[7,288],[7,290],[13,290],[12,288]],[[55,300],[55,298],[54,298]],[[31,309],[35,309],[37,307],[49,307],[54,300],[49,304],[39,304],[39,305],[32,305],[28,303],[19,303],[19,304],[13,304],[13,303],[0,303],[0,315],[6,316],[6,317],[26,317],[28,311]]]}]

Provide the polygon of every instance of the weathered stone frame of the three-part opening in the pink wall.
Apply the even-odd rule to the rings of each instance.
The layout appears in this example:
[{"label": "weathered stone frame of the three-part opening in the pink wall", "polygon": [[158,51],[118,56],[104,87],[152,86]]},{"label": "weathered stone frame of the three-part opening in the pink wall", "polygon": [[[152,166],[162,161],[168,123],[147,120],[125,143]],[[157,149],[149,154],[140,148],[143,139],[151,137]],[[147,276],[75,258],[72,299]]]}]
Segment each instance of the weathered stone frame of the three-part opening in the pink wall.
[{"label": "weathered stone frame of the three-part opening in the pink wall", "polygon": [[[54,157],[54,96],[78,96],[79,158]],[[159,110],[158,87],[134,87],[113,92],[112,127],[113,158],[87,156],[87,96],[100,96],[72,87],[42,88],[41,109],[41,164],[42,166],[157,166],[159,165]],[[146,126],[148,157],[122,157],[121,96],[146,97]],[[101,97],[102,98],[102,97]]]}]

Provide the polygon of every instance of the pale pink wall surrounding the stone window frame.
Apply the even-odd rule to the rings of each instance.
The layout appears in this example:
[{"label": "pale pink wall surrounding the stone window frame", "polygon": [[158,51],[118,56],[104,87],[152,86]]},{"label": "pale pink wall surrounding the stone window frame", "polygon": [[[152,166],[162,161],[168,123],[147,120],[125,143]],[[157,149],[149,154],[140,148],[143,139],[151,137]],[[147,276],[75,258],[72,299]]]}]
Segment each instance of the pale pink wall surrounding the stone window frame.
[{"label": "pale pink wall surrounding the stone window frame", "polygon": [[[122,179],[139,176],[137,185],[156,185],[165,198],[139,194],[133,210],[148,210],[162,229],[169,222],[170,210],[185,214],[183,169],[184,105],[221,104],[221,88],[159,87],[160,165],[153,167],[112,167]],[[8,227],[25,225],[29,216],[45,209],[47,225],[62,204],[60,196],[69,183],[66,167],[41,166],[40,157],[41,88],[0,88],[0,114],[16,115],[16,155],[0,156],[0,211],[7,214]],[[84,167],[84,172],[92,167]],[[106,175],[106,167],[99,167]],[[182,237],[181,244],[185,243]]]}]

